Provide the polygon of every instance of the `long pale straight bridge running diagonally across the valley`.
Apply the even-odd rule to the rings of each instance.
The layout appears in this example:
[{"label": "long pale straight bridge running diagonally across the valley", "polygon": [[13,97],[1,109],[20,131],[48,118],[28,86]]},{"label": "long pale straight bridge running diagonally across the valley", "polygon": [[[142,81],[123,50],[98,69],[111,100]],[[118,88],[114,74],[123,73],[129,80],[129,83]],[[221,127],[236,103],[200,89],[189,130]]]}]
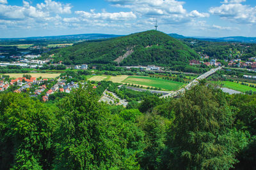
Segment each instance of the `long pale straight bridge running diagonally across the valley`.
[{"label": "long pale straight bridge running diagonally across the valley", "polygon": [[205,78],[211,76],[212,74],[214,74],[216,71],[220,70],[222,67],[217,67],[215,69],[211,69],[210,71],[202,74],[201,76],[199,76],[198,78],[196,78],[195,80],[191,81],[188,85],[186,85],[186,87],[177,90],[176,92],[170,92],[166,95],[161,96],[161,98],[163,97],[177,97],[179,96],[179,94],[182,94],[185,92],[185,90],[189,90],[192,87],[194,87],[195,85],[197,85],[199,83],[200,80],[204,80]]}]

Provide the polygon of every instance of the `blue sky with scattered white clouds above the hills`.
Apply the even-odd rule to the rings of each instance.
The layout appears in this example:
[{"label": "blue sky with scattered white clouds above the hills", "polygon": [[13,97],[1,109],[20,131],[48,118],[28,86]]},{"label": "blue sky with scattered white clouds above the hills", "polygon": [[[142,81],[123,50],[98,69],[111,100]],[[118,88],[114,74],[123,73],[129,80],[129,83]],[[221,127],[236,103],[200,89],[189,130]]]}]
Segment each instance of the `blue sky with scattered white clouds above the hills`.
[{"label": "blue sky with scattered white clouds above the hills", "polygon": [[0,38],[132,34],[256,37],[256,0],[0,0]]}]

